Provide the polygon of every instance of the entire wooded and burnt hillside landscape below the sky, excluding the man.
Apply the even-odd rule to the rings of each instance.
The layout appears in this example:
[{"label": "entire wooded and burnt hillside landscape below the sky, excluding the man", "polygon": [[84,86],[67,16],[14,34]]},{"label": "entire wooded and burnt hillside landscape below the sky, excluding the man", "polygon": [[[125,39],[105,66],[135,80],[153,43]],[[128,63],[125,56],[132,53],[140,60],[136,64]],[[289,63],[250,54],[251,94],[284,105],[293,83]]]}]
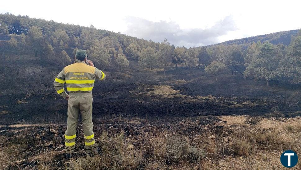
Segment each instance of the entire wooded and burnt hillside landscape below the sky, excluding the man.
[{"label": "entire wooded and burnt hillside landscape below the sky, excluding the man", "polygon": [[[0,169],[285,169],[283,151],[301,153],[299,30],[187,49],[92,25],[0,23]],[[101,154],[85,154],[79,118],[65,159],[68,101],[53,81],[76,49],[107,76],[92,92]]]}]

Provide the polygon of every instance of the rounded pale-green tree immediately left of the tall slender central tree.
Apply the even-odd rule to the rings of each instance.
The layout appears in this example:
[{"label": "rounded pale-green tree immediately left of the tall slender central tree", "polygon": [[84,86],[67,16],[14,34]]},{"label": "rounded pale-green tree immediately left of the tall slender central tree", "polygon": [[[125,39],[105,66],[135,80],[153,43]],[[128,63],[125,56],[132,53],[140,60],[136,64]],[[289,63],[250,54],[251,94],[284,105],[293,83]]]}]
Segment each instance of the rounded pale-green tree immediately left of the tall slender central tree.
[{"label": "rounded pale-green tree immediately left of the tall slender central tree", "polygon": [[157,64],[155,50],[151,47],[143,49],[138,63],[139,66],[148,68],[148,72],[150,72],[150,69],[154,68]]}]

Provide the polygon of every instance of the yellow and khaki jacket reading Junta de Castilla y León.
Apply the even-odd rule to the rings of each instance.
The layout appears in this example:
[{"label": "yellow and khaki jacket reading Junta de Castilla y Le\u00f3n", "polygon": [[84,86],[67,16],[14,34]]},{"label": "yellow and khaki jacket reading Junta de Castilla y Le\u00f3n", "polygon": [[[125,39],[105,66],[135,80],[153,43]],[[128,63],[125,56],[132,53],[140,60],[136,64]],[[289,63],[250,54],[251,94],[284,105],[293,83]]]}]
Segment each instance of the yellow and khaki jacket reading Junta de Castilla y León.
[{"label": "yellow and khaki jacket reading Junta de Castilla y Le\u00f3n", "polygon": [[64,99],[67,93],[64,90],[64,83],[67,84],[67,91],[91,92],[95,79],[104,80],[106,74],[96,67],[87,65],[85,62],[75,60],[74,64],[66,66],[53,82],[56,92]]}]

